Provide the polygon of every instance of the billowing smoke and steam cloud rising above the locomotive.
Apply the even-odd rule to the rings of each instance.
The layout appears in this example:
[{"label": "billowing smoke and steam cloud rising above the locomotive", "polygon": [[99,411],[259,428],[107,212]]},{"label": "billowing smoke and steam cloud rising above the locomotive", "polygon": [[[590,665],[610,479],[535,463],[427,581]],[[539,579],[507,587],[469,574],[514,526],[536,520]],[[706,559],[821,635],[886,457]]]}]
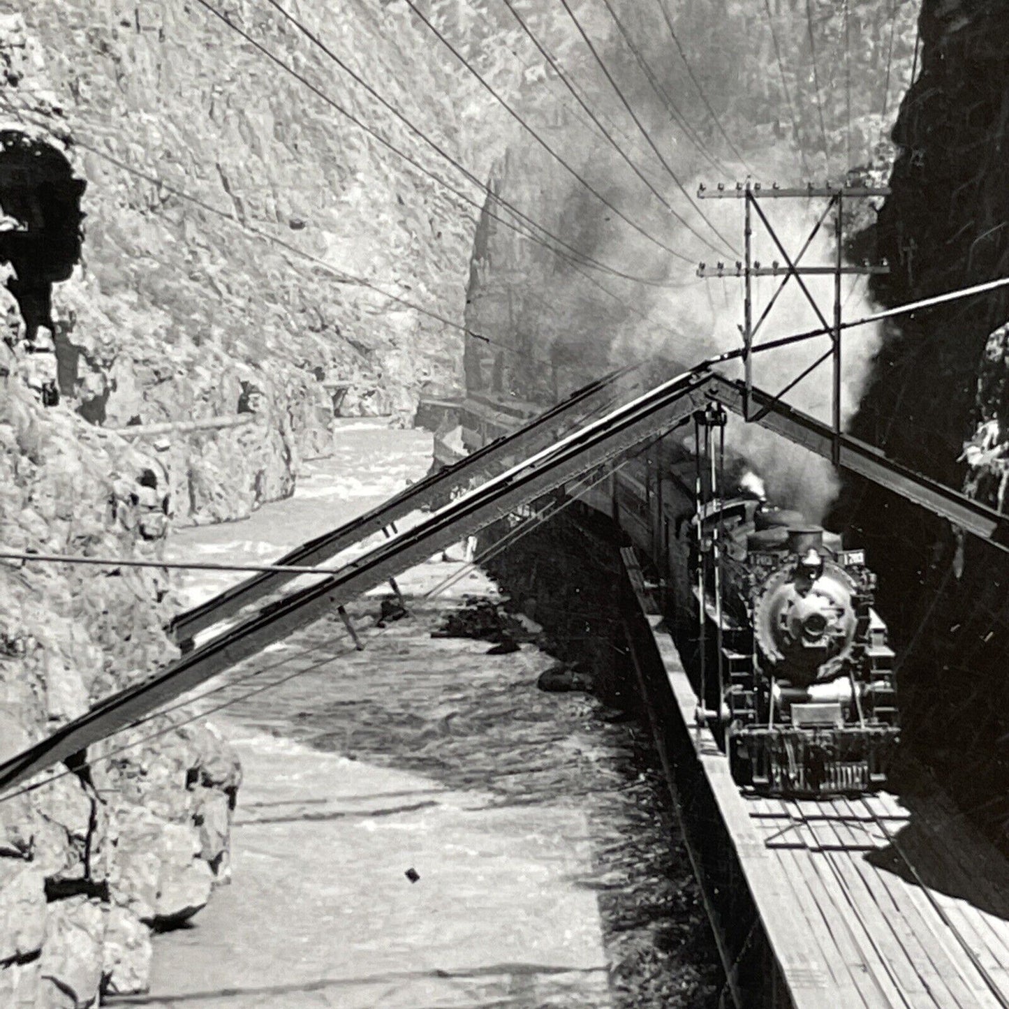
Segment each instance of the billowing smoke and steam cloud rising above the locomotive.
[{"label": "billowing smoke and steam cloud rising above the locomotive", "polygon": [[[720,28],[708,36],[707,29],[713,31],[716,27],[712,19],[721,17],[720,8],[688,3],[679,8],[679,16],[684,19],[685,27],[681,27],[686,32],[685,37],[694,38],[700,46],[692,55],[697,66],[703,66],[708,96],[716,105],[728,106],[723,114],[724,126],[741,146],[747,165],[734,162],[726,153],[726,144],[714,135],[709,117],[698,108],[696,90],[682,61],[670,60],[670,38],[656,9],[635,0],[611,2],[625,29],[637,40],[640,54],[658,75],[659,87],[667,96],[676,96],[683,107],[689,109],[689,118],[700,124],[699,129],[708,136],[710,147],[717,150],[728,174],[719,178],[713,169],[702,171],[706,163],[704,155],[673,121],[656,87],[646,80],[636,63],[635,57],[639,53],[632,54],[627,38],[621,36],[603,5],[594,0],[572,0],[588,35],[595,40],[613,79],[620,82],[621,100],[566,17],[557,13],[553,6],[545,7],[534,0],[518,0],[534,30],[560,55],[565,73],[577,82],[589,105],[600,114],[616,145],[692,226],[688,228],[677,220],[655,193],[649,191],[648,183],[614,152],[613,144],[604,142],[599,130],[574,107],[574,102],[565,95],[564,87],[552,73],[546,74],[542,88],[523,90],[531,118],[541,124],[549,121],[550,142],[563,151],[568,163],[574,165],[611,206],[607,208],[590,196],[521,130],[509,141],[509,155],[496,176],[502,192],[517,203],[535,209],[539,219],[546,220],[555,232],[562,234],[584,255],[616,266],[633,276],[646,277],[651,283],[635,285],[595,272],[591,267],[565,266],[556,256],[535,249],[530,251],[528,243],[491,227],[495,251],[487,254],[486,263],[520,265],[524,284],[521,292],[517,291],[506,271],[495,286],[489,279],[488,270],[477,297],[472,300],[467,319],[476,329],[486,326],[488,331],[508,331],[513,346],[523,351],[518,357],[499,355],[494,365],[498,374],[512,375],[506,377],[506,385],[522,395],[545,398],[563,394],[565,388],[574,388],[583,382],[587,373],[599,373],[604,368],[639,360],[657,362],[653,377],[658,380],[670,374],[670,362],[687,367],[741,345],[743,282],[701,279],[695,275],[694,268],[699,261],[713,263],[722,259],[732,266],[737,259],[743,258],[743,202],[697,201],[700,210],[724,237],[723,241],[674,184],[661,164],[660,156],[691,196],[696,194],[701,183],[709,190],[718,182],[734,186],[750,172],[754,181],[764,186],[774,181],[783,186],[807,181],[799,176],[801,159],[796,149],[782,136],[783,109],[758,110],[752,118],[759,122],[734,116],[735,99],[730,96],[746,90],[741,77],[740,52],[749,51],[757,43],[745,34],[732,35],[733,44],[740,47],[740,52],[734,53],[731,45],[728,48],[721,45],[725,39]],[[504,26],[515,28],[509,21]],[[712,47],[709,37],[719,38],[719,46]],[[547,79],[551,79],[552,84],[548,84]],[[721,102],[719,94],[723,98]],[[651,143],[645,140],[637,124],[632,124],[624,100],[635,109]],[[545,112],[549,112],[549,116]],[[853,160],[863,163],[869,160],[867,138],[865,134],[863,149],[853,151]],[[806,154],[812,171],[817,173],[816,179],[821,182],[825,178],[838,180],[849,167],[836,156],[827,165],[825,156],[820,157],[813,151],[806,151]],[[825,175],[826,167],[829,176]],[[794,256],[823,204],[819,201],[767,200],[762,207],[782,243]],[[641,230],[621,220],[618,211],[632,218],[658,241],[649,240]],[[727,248],[730,244],[735,247]],[[712,245],[721,251],[714,251]],[[671,254],[670,249],[679,256]],[[827,219],[807,249],[803,263],[830,264],[834,254],[833,222]],[[785,258],[756,219],[753,256],[765,264],[775,259],[784,263]],[[586,273],[591,273],[591,278],[586,278]],[[832,277],[804,279],[830,321]],[[774,277],[755,282],[755,320],[760,318],[778,283]],[[606,287],[608,293],[601,293],[600,286]],[[871,313],[865,289],[864,278],[845,277],[846,318]],[[621,307],[622,303],[626,310]],[[762,326],[758,339],[772,339],[820,325],[820,319],[792,279]],[[847,422],[858,409],[880,333],[864,327],[849,331],[844,340],[842,417],[843,422]],[[828,341],[824,336],[806,344],[758,355],[754,359],[756,383],[777,391],[823,353]],[[542,366],[545,348],[555,365],[553,388],[549,387],[547,369]],[[488,361],[492,357],[486,348],[476,348],[474,353],[486,353]],[[740,375],[740,365],[726,366],[726,373]],[[785,399],[795,408],[828,421],[830,389],[830,363],[827,361]],[[838,486],[828,461],[735,418],[730,420],[726,444],[765,481],[770,500],[801,509],[810,520],[822,519]]]}]

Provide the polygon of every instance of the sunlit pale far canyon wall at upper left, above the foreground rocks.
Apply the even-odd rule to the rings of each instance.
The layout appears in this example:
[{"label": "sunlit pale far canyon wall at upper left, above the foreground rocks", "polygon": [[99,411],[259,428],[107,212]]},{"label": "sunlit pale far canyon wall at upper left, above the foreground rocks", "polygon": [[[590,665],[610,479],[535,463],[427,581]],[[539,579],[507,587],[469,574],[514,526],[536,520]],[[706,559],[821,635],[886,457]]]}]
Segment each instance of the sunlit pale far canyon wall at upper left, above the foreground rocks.
[{"label": "sunlit pale far canyon wall at upper left, above the foreground rocks", "polygon": [[[429,6],[451,21],[458,5]],[[500,121],[405,5],[297,14],[485,176]],[[226,16],[481,199],[276,10]],[[4,26],[0,127],[79,144],[73,277],[20,299],[29,337],[50,324],[64,401],[116,428],[254,414],[251,429],[161,440],[180,519],[238,518],[289,493],[299,458],[327,451],[334,411],[408,419],[425,382],[456,383],[461,334],[386,297],[461,322],[473,225],[456,197],[200,5],[52,0]]]}]

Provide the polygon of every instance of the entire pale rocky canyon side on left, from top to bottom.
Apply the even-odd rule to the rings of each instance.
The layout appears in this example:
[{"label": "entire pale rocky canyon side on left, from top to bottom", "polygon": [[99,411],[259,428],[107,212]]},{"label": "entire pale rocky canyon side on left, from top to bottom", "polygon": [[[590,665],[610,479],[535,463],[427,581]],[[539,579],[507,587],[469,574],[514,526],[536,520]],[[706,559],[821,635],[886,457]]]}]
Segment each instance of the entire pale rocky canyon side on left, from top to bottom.
[{"label": "entire pale rocky canyon side on left, from top to bottom", "polygon": [[[381,121],[275,12],[227,14]],[[300,14],[485,175],[499,123],[402,4]],[[289,493],[334,413],[455,380],[457,331],[346,274],[461,321],[473,221],[197,5],[0,2],[0,208],[5,548],[156,561],[173,522]],[[178,429],[205,418],[243,423]],[[175,658],[170,588],[0,563],[0,759]],[[239,769],[189,713],[0,802],[0,1004],[142,991],[150,928],[228,879]]]}]

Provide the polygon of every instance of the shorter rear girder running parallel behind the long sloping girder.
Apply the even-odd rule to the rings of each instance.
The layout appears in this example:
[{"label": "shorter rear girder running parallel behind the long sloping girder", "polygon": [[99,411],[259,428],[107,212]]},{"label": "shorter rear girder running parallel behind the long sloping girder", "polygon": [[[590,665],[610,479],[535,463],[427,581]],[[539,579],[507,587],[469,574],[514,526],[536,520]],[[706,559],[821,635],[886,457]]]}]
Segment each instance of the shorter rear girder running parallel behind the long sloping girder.
[{"label": "shorter rear girder running parallel behind the long sloping girder", "polygon": [[[627,370],[624,368],[613,371],[584,385],[508,437],[483,446],[440,472],[428,474],[424,479],[411,484],[370,512],[352,519],[332,532],[303,543],[276,563],[303,567],[324,563],[341,550],[346,550],[374,533],[387,529],[412,512],[429,506],[439,496],[465,486],[471,480],[499,473],[511,462],[546,448],[573,424],[577,424],[586,412],[604,403],[607,397],[614,396],[615,381]],[[299,577],[302,576],[282,571],[253,575],[175,618],[169,625],[169,633],[179,644],[187,645],[202,631],[233,616],[245,606],[262,599]]]}]

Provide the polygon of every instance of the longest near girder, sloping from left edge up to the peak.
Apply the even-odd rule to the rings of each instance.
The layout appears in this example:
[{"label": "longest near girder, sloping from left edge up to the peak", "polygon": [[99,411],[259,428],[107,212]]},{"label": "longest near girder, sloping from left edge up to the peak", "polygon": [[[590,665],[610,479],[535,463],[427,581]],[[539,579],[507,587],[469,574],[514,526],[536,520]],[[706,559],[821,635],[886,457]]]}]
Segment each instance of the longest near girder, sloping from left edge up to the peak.
[{"label": "longest near girder, sloping from left edge up to the peak", "polygon": [[4,761],[0,764],[0,790],[15,787],[53,764],[86,751],[432,554],[682,423],[703,406],[704,389],[709,382],[707,371],[695,370],[663,383],[464,493],[337,574],[265,606],[150,679],[113,694],[46,739]]}]

